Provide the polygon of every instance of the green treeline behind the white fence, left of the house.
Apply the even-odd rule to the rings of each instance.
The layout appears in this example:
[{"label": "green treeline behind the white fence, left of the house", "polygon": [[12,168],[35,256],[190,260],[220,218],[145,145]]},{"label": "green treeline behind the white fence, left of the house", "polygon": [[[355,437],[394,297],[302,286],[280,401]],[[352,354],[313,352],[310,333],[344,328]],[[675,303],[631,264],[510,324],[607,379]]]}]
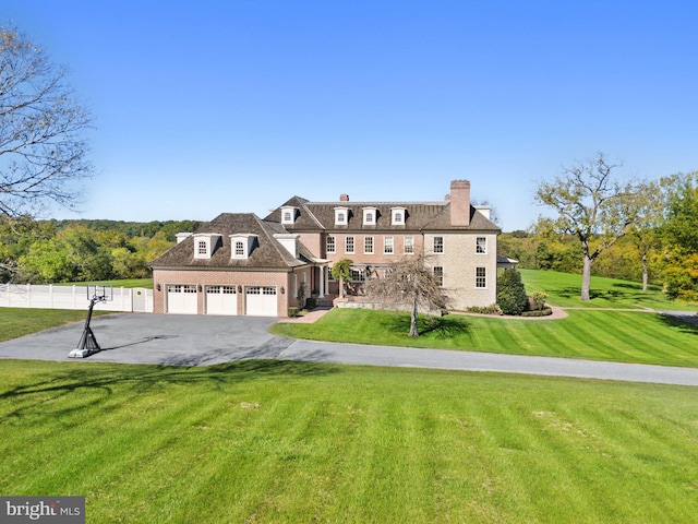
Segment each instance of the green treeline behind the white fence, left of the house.
[{"label": "green treeline behind the white fence, left of the house", "polygon": [[195,221],[0,222],[0,282],[61,283],[146,278],[148,262],[174,246]]}]

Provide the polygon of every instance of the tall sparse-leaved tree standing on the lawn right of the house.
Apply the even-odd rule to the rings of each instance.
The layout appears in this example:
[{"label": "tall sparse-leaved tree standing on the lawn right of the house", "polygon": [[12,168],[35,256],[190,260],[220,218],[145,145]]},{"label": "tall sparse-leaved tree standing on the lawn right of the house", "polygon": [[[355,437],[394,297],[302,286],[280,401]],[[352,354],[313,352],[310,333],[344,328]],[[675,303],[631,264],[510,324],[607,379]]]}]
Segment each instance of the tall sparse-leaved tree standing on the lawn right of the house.
[{"label": "tall sparse-leaved tree standing on the lawn right of the house", "polygon": [[[563,168],[552,182],[541,182],[534,200],[557,212],[547,221],[557,234],[576,237],[583,251],[581,300],[590,300],[591,265],[611,248],[637,217],[635,184],[615,180],[618,164],[610,164],[598,153],[587,162]],[[541,219],[545,222],[545,219]]]}]

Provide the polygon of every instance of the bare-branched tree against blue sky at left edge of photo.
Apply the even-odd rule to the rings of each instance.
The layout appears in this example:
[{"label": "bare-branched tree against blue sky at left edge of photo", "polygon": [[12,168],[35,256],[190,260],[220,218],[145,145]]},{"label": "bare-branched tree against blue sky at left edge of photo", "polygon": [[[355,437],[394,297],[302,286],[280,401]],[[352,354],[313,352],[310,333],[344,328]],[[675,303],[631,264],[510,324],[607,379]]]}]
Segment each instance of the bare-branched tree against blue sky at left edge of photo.
[{"label": "bare-branched tree against blue sky at left edge of photo", "polygon": [[33,216],[50,202],[72,209],[73,182],[92,175],[83,139],[92,117],[65,76],[16,27],[0,26],[0,216]]}]

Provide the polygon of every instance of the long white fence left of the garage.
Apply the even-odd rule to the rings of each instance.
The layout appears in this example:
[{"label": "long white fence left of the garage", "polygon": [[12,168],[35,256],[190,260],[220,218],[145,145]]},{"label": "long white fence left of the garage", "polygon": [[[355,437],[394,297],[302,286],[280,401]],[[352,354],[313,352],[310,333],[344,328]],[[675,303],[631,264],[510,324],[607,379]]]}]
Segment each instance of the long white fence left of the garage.
[{"label": "long white fence left of the garage", "polygon": [[[87,309],[91,298],[87,286],[0,284],[2,308]],[[113,299],[96,303],[95,310],[152,313],[153,289],[117,287]]]}]

